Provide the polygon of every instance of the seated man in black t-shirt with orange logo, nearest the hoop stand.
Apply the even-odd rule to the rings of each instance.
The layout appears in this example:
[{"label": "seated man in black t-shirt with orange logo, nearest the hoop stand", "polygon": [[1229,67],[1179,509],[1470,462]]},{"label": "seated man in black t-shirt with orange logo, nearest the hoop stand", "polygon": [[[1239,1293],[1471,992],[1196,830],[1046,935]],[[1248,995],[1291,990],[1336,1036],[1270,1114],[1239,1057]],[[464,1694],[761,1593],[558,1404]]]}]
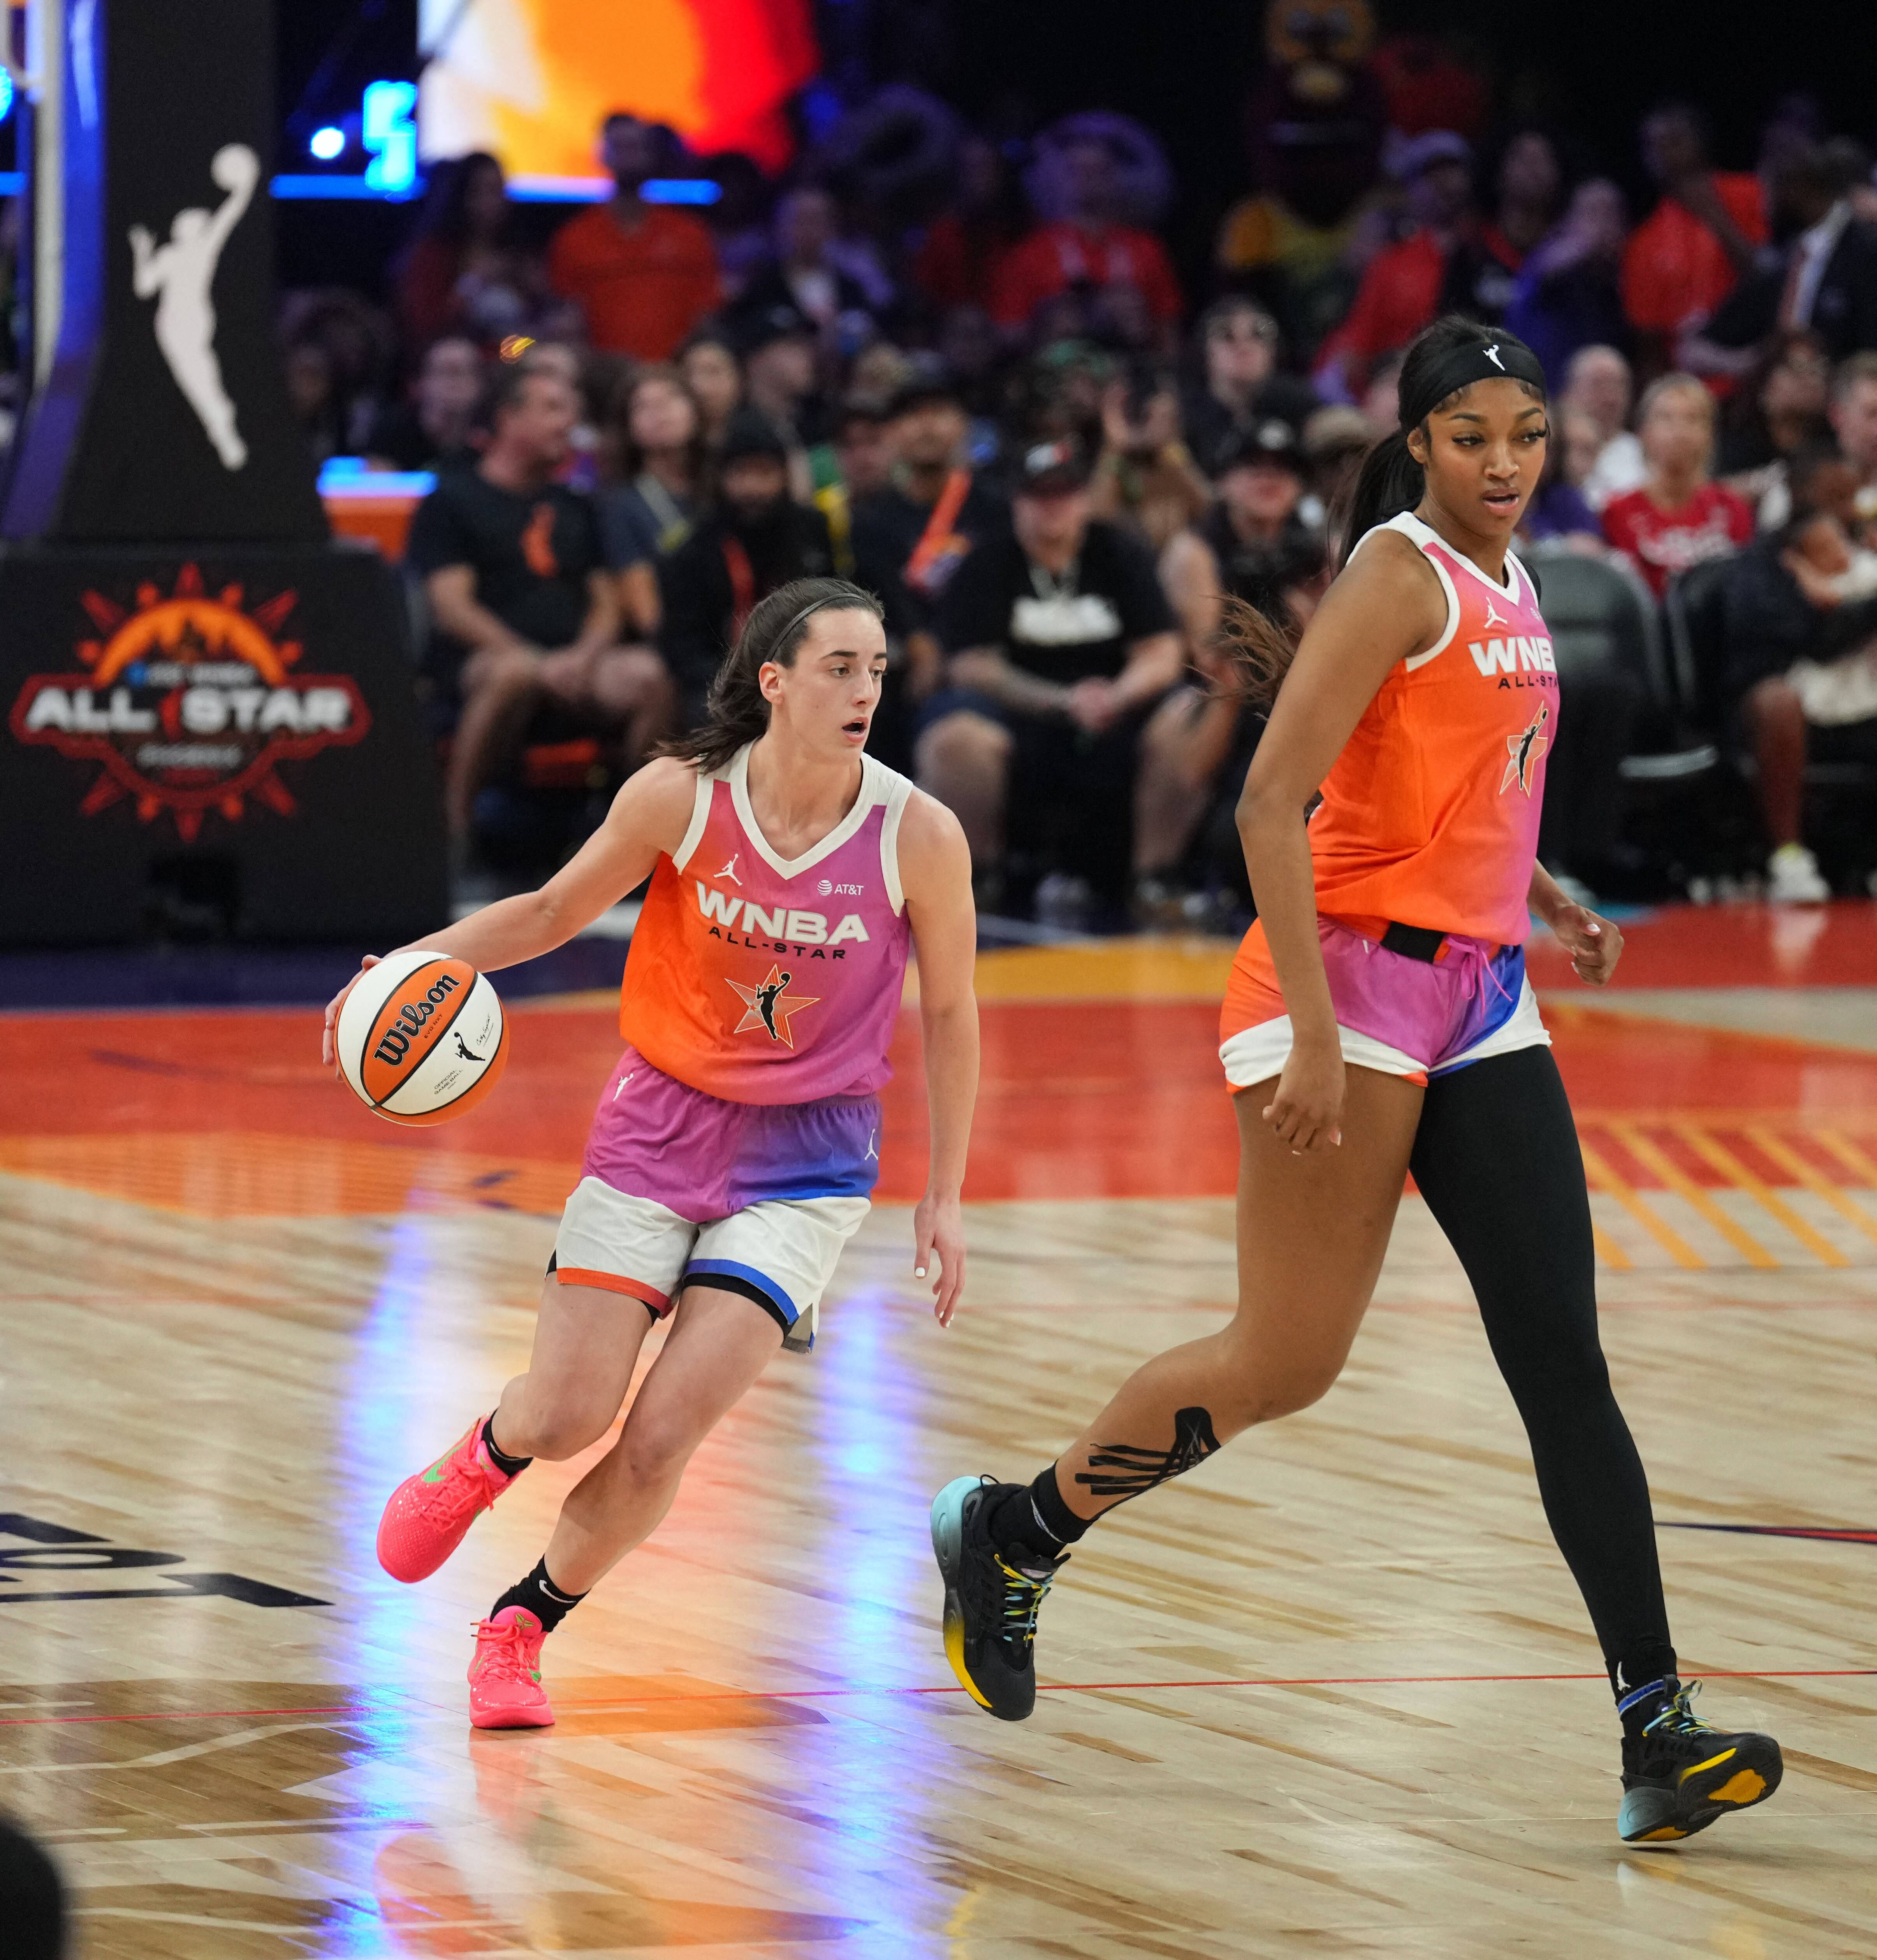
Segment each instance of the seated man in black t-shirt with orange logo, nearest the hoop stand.
[{"label": "seated man in black t-shirt with orange logo, nearest the hoop stand", "polygon": [[477,416],[481,461],[441,476],[412,519],[408,563],[433,627],[426,670],[453,729],[443,802],[457,839],[537,719],[600,735],[622,768],[669,725],[663,662],[622,645],[592,500],[557,482],[579,414],[557,374],[504,367]]}]

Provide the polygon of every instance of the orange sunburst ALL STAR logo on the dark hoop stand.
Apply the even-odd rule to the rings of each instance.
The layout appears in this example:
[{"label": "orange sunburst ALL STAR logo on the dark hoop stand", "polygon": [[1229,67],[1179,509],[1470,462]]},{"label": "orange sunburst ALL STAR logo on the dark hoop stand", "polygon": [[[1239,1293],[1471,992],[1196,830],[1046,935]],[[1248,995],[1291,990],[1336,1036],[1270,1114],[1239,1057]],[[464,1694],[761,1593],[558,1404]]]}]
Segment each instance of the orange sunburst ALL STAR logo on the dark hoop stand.
[{"label": "orange sunburst ALL STAR logo on the dark hoop stand", "polygon": [[292,815],[277,766],[371,727],[345,674],[294,672],[300,647],[277,637],[294,602],[280,592],[247,610],[239,586],[210,596],[194,564],[169,598],[139,586],[133,610],[86,592],[100,637],[78,641],[80,672],[33,674],[8,725],[16,741],[100,764],[82,815],[133,798],[145,823],[169,811],[184,841],[212,809],[239,821],[251,796]]}]

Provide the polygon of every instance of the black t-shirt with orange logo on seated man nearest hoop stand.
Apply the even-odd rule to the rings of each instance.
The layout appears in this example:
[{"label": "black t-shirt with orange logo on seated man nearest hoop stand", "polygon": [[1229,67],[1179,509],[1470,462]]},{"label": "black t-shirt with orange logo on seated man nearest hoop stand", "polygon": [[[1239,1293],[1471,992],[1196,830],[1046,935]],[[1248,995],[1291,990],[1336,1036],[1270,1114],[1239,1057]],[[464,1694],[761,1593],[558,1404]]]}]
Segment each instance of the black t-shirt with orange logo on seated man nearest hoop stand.
[{"label": "black t-shirt with orange logo on seated man nearest hoop stand", "polygon": [[565,484],[526,494],[477,470],[439,478],[410,521],[406,563],[430,574],[467,564],[477,604],[535,647],[581,637],[588,572],[606,568],[592,500]]}]

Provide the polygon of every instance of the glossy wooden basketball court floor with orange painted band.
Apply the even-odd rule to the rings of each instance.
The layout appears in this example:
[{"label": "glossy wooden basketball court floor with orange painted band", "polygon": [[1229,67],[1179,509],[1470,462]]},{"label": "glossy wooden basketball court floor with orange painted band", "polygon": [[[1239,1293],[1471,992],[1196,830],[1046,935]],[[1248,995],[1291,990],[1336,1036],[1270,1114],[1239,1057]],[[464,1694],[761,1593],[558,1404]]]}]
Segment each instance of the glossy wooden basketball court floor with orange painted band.
[{"label": "glossy wooden basketball court floor with orange painted band", "polygon": [[[463,1719],[469,1621],[583,1466],[528,1472],[422,1588],[373,1527],[526,1356],[561,1092],[522,1068],[514,1147],[412,1154],[296,1102],[304,1017],[224,1017],[220,1084],[94,1058],[194,1066],[196,1017],[0,1023],[0,1058],[67,1084],[0,1119],[0,1807],[53,1842],[80,1960],[1877,1952],[1877,1060],[1844,1004],[1830,1051],[1553,1015],[1606,1151],[1604,1335],[1677,1639],[1791,1766],[1753,1817],[1638,1854],[1583,1609],[1414,1198],[1336,1392],[1075,1554],[1036,1717],[955,1690],[932,1488],[1030,1474],[1232,1299],[1196,988],[1110,953],[1051,996],[1024,958],[989,1009],[1016,1060],[959,1325],[920,1311],[883,1203],[816,1352],[549,1644],[559,1725],[512,1737]],[[1032,1015],[1063,1023],[1053,1182]],[[567,1056],[610,1037],[588,1005],[559,1025],[537,1053],[573,1107],[596,1078]],[[1130,1121],[1187,1096],[1189,1180],[1141,1172]],[[1822,1527],[1853,1535],[1785,1535]]]}]

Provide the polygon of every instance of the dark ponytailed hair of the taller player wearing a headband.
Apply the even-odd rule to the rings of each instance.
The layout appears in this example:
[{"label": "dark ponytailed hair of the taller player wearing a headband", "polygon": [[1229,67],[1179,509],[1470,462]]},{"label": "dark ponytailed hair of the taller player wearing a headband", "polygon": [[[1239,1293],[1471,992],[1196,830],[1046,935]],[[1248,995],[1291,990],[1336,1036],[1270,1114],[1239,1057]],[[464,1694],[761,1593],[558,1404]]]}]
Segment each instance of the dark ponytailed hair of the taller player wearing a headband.
[{"label": "dark ponytailed hair of the taller player wearing a headband", "polygon": [[[1544,400],[1542,386],[1530,378],[1542,372],[1538,359],[1516,335],[1481,325],[1477,319],[1465,319],[1459,314],[1447,314],[1430,327],[1422,327],[1402,359],[1398,386],[1400,412],[1414,419],[1402,421],[1393,435],[1385,435],[1363,457],[1355,488],[1349,492],[1347,510],[1338,514],[1338,527],[1344,537],[1338,572],[1349,563],[1349,553],[1355,545],[1375,525],[1398,517],[1404,510],[1414,510],[1426,494],[1428,480],[1422,466],[1414,461],[1414,453],[1408,449],[1408,431],[1422,429],[1426,437],[1428,416],[1459,394],[1459,388],[1446,388],[1440,378],[1453,357],[1471,355],[1475,349],[1485,351],[1487,347],[1497,349],[1497,365],[1502,367],[1510,361],[1524,368],[1526,372],[1510,374],[1508,378],[1518,380],[1530,394]],[[1465,372],[1463,363],[1461,372]],[[1471,382],[1461,382],[1461,386],[1471,386]],[[1283,625],[1269,619],[1255,606],[1247,606],[1242,600],[1226,600],[1220,617],[1220,639],[1238,659],[1245,698],[1269,708],[1291,666],[1291,657],[1296,653],[1298,635],[1285,631]]]}]

